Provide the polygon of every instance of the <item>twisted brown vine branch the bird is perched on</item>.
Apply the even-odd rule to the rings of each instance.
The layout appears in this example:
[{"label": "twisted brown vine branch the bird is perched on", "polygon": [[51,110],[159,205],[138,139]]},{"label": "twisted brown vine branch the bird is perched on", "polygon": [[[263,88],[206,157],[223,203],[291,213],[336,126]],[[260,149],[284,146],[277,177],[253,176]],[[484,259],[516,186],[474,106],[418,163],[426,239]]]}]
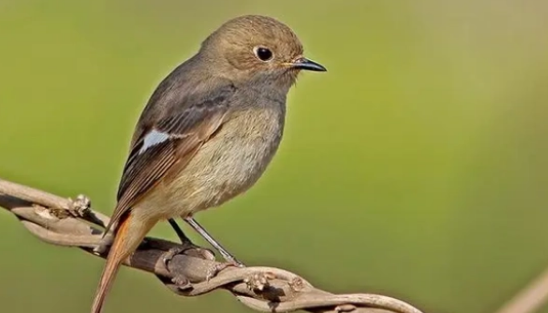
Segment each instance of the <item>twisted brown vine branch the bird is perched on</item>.
[{"label": "twisted brown vine branch the bird is perched on", "polygon": [[[75,200],[59,197],[31,187],[0,179],[0,207],[13,213],[27,230],[41,240],[55,245],[80,248],[91,255],[99,247],[102,230],[109,218],[90,208],[85,196]],[[332,294],[315,288],[304,278],[272,267],[227,267],[207,279],[210,270],[220,263],[198,255],[176,255],[167,268],[162,257],[177,243],[147,237],[139,249],[126,260],[126,266],[156,275],[171,291],[182,296],[199,296],[214,290],[230,291],[244,305],[260,312],[335,313],[421,313],[413,306],[387,296],[355,293]],[[187,277],[192,288],[181,290],[172,282]]]}]

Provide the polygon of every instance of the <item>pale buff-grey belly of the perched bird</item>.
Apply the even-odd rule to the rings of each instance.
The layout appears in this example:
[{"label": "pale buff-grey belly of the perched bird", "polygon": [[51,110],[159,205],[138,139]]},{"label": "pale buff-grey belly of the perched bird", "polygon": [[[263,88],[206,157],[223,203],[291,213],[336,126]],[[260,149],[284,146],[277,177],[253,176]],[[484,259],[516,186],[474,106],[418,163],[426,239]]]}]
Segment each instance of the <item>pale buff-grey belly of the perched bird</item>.
[{"label": "pale buff-grey belly of the perched bird", "polygon": [[154,188],[139,204],[145,208],[140,211],[157,219],[189,216],[249,189],[266,170],[281,140],[283,125],[270,118],[263,118],[260,125],[252,120],[225,124],[174,179]]}]

